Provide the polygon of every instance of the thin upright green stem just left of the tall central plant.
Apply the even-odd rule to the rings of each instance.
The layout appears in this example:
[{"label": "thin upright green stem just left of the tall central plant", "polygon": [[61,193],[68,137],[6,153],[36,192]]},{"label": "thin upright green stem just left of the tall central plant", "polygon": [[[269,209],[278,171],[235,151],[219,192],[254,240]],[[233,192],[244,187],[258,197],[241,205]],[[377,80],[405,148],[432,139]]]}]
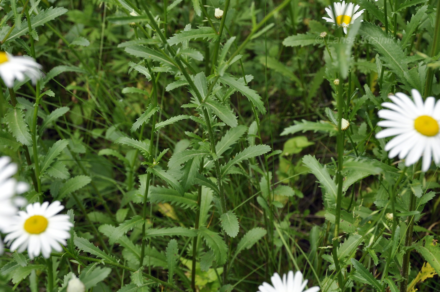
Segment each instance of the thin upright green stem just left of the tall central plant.
[{"label": "thin upright green stem just left of the tall central plant", "polygon": [[[157,94],[157,84],[156,84],[156,78],[154,76],[153,70],[151,70],[151,66],[148,63],[148,61],[145,62],[145,65],[147,65],[148,71],[150,71],[151,74],[151,83],[153,84],[153,92],[151,93],[151,96],[153,98],[153,107],[158,106],[158,94]],[[150,147],[149,152],[150,156],[148,157],[148,162],[150,163],[149,166],[153,167],[153,146],[154,146],[154,133],[156,132],[154,129],[156,128],[156,114],[151,117],[151,135],[150,135]],[[147,172],[147,182],[145,183],[145,193],[143,195],[143,210],[142,210],[142,246],[141,246],[141,252],[140,252],[140,259],[139,259],[139,268],[143,266],[143,257],[145,255],[145,226],[147,223],[147,205],[148,205],[148,191],[150,189],[150,180],[151,180],[151,173]]]}]

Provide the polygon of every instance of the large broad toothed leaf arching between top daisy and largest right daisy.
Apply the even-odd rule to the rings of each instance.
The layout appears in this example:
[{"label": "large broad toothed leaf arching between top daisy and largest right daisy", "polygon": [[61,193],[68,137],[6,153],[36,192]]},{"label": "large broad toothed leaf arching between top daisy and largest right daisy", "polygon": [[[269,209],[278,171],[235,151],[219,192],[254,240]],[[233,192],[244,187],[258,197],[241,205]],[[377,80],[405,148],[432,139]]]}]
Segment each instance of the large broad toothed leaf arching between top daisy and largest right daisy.
[{"label": "large broad toothed leaf arching between top daisy and largest right daisy", "polygon": [[400,44],[380,27],[369,22],[361,26],[359,33],[378,51],[384,65],[400,78],[400,82],[404,83],[404,72],[408,71],[408,63]]}]

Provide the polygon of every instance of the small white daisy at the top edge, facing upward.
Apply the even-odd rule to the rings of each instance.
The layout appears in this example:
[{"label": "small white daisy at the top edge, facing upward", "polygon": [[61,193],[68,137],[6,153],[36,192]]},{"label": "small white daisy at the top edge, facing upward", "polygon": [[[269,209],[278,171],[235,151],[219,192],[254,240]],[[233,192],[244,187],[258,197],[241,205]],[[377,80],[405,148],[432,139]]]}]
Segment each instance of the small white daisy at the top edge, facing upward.
[{"label": "small white daisy at the top edge, facing upward", "polygon": [[336,17],[335,15],[333,15],[333,11],[330,5],[326,8],[327,14],[330,16],[330,18],[323,17],[323,19],[325,19],[327,22],[333,22],[334,25],[342,26],[344,28],[344,33],[347,33],[347,27],[350,24],[353,24],[356,18],[358,18],[365,10],[362,9],[358,11],[358,9],[360,8],[359,5],[355,6],[355,4],[353,3],[345,4],[345,0],[342,2],[335,2],[333,7]]}]

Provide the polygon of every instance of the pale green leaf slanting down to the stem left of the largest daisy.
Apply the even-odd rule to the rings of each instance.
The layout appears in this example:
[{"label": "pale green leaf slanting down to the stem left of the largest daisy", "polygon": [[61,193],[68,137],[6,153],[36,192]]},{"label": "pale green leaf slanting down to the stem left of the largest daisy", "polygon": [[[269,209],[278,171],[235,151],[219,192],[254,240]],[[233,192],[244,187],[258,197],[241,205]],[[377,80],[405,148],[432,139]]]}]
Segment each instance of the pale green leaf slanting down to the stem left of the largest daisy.
[{"label": "pale green leaf slanting down to the stem left of the largest daisy", "polygon": [[305,155],[303,157],[303,163],[312,172],[322,187],[326,190],[326,201],[330,204],[336,203],[337,187],[333,179],[331,179],[329,172],[322,164],[320,164],[312,155]]}]

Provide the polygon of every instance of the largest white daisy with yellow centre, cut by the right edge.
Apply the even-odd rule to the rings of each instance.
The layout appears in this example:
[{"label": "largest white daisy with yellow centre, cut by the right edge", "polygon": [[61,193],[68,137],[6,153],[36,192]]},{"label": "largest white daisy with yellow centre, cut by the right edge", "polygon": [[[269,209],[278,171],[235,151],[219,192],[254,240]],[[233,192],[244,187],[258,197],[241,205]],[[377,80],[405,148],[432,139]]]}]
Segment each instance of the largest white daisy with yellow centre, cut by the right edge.
[{"label": "largest white daisy with yellow centre, cut by the right edge", "polygon": [[[382,103],[389,110],[379,110],[383,118],[378,126],[387,127],[376,134],[376,138],[392,138],[386,145],[388,157],[399,155],[410,166],[422,158],[422,171],[426,172],[432,158],[440,163],[440,101],[432,96],[423,102],[422,95],[411,90],[414,102],[401,92],[390,95],[392,102]],[[394,102],[394,103],[393,103]]]}]

